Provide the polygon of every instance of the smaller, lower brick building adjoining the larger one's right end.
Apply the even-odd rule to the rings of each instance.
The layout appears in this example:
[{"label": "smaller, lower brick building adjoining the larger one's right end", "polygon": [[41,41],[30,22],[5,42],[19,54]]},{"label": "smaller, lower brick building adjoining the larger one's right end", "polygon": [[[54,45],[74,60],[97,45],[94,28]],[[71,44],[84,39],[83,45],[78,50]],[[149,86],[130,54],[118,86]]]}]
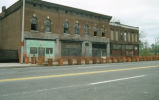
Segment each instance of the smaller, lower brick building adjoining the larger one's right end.
[{"label": "smaller, lower brick building adjoining the larger one's right end", "polygon": [[139,28],[111,22],[110,25],[110,54],[112,56],[139,55]]}]

